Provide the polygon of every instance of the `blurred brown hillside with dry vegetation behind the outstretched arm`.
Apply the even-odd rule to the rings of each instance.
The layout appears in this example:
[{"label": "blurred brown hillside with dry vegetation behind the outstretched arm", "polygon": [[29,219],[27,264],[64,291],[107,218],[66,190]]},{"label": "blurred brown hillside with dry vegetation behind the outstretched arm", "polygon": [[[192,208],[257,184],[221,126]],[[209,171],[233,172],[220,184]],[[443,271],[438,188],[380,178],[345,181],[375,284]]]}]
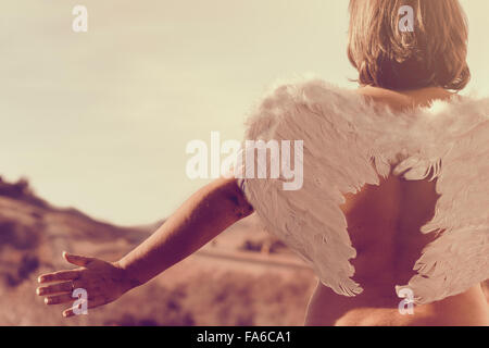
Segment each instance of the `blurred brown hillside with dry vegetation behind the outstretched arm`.
[{"label": "blurred brown hillside with dry vegetation behind the outstretched arm", "polygon": [[[63,250],[115,260],[149,232],[93,221],[37,198],[26,181],[0,179],[0,325],[300,325],[315,284],[311,271],[266,262],[280,244],[243,221],[149,284],[72,320],[35,295],[39,273],[66,269]],[[272,256],[253,257],[261,250]],[[214,251],[238,259],[214,258]],[[229,251],[230,250],[230,251]],[[244,251],[243,251],[244,250]],[[258,251],[258,252],[256,252]],[[247,262],[250,256],[254,262]]]}]

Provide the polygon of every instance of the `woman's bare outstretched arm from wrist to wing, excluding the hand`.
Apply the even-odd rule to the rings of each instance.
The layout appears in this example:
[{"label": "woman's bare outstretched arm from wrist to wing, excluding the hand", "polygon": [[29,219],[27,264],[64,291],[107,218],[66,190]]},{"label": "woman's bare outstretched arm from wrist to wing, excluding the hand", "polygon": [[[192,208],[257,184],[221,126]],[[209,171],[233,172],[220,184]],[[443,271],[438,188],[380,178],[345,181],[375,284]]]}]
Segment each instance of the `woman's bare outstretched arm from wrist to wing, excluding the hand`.
[{"label": "woman's bare outstretched arm from wrist to wing, excluding the hand", "polygon": [[131,279],[143,284],[251,212],[235,179],[217,179],[197,191],[118,264]]}]

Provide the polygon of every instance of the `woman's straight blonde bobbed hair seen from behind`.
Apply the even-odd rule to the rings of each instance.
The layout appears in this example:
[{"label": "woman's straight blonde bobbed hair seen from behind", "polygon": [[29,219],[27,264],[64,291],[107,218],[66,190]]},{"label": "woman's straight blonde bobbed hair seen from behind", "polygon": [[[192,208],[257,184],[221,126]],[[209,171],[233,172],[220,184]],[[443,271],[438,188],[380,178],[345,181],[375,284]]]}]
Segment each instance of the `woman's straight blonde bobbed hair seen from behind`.
[{"label": "woman's straight blonde bobbed hair seen from behind", "polygon": [[[402,32],[399,10],[413,9],[413,30]],[[463,89],[468,23],[457,0],[350,0],[348,58],[358,82],[389,89],[429,86]]]}]

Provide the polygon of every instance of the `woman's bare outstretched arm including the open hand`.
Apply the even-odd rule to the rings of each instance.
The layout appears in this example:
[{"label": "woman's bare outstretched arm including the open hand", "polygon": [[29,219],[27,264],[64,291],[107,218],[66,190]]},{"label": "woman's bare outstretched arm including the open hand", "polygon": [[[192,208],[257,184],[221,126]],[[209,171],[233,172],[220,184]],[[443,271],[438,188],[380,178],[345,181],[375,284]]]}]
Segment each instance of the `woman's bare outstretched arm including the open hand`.
[{"label": "woman's bare outstretched arm including the open hand", "polygon": [[[73,288],[88,294],[88,308],[114,301],[131,288],[200,249],[221,232],[253,211],[236,179],[220,178],[193,194],[154,234],[117,262],[63,253],[80,268],[39,276],[57,283],[37,289],[47,304],[73,302]],[[73,309],[63,312],[74,315]]]}]

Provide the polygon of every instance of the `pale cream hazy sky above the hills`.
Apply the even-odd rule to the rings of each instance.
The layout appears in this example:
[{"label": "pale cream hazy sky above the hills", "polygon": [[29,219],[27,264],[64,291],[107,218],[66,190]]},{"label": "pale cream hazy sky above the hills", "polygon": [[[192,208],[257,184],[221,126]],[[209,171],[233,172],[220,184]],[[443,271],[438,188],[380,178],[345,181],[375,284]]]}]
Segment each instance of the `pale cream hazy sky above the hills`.
[{"label": "pale cream hazy sky above the hills", "polygon": [[[489,1],[471,23],[467,91],[489,96]],[[88,10],[75,33],[72,10]],[[58,207],[139,225],[210,179],[190,179],[189,141],[242,138],[277,78],[342,87],[346,0],[15,0],[0,12],[0,175]]]}]

